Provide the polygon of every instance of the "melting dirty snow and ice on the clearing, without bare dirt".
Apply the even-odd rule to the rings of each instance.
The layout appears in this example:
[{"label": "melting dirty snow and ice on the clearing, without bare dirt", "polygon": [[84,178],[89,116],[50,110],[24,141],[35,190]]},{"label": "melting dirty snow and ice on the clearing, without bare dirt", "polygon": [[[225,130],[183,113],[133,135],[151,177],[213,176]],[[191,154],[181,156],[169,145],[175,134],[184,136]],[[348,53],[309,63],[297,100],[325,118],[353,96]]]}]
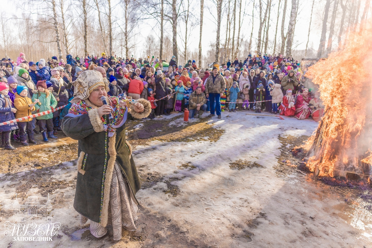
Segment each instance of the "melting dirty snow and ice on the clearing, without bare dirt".
[{"label": "melting dirty snow and ice on the clearing, without bare dirt", "polygon": [[[54,217],[62,225],[60,236],[52,242],[11,243],[11,238],[3,236],[6,219],[2,219],[0,246],[370,247],[372,216],[358,206],[357,200],[345,201],[341,192],[324,189],[305,173],[279,176],[275,171],[282,146],[279,136],[310,136],[318,123],[247,113],[252,112],[225,112],[221,120],[209,120],[208,124],[225,131],[217,142],[151,141],[135,148],[133,156],[140,173],[157,178],[154,185],[136,195],[144,212],[139,215],[138,232],[155,230],[151,237],[156,242],[86,238],[91,235],[87,229],[79,231],[87,225],[78,224],[78,214],[72,206],[74,188],[69,185],[52,195]],[[172,124],[182,126],[182,121]],[[135,128],[141,129],[142,125]],[[232,170],[229,163],[237,160],[261,166]],[[51,180],[73,182],[77,173],[73,164],[66,162],[51,168]],[[30,173],[33,172],[3,175],[9,177],[0,183],[3,211],[12,210],[11,198],[20,184],[27,183],[23,178]],[[31,188],[26,195],[37,195],[38,190]],[[46,198],[40,199],[44,203]],[[147,215],[163,218],[158,223],[161,228],[141,222]],[[157,222],[151,225],[156,226]],[[172,232],[174,227],[177,232]],[[81,237],[81,233],[85,236]],[[183,240],[187,246],[177,243],[174,235],[186,237]]]}]

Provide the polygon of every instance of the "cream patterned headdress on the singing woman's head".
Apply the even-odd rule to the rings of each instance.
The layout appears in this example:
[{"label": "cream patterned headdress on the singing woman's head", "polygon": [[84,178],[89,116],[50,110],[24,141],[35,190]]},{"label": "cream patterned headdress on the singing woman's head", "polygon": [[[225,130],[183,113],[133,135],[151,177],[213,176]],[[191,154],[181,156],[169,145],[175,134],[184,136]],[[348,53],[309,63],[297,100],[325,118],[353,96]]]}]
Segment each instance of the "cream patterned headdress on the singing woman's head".
[{"label": "cream patterned headdress on the singing woman's head", "polygon": [[103,78],[99,71],[85,70],[79,77],[73,81],[75,87],[74,98],[71,103],[76,103],[80,100],[85,100],[89,97],[90,93],[98,86],[105,87],[106,91],[109,91],[109,83],[107,78]]}]

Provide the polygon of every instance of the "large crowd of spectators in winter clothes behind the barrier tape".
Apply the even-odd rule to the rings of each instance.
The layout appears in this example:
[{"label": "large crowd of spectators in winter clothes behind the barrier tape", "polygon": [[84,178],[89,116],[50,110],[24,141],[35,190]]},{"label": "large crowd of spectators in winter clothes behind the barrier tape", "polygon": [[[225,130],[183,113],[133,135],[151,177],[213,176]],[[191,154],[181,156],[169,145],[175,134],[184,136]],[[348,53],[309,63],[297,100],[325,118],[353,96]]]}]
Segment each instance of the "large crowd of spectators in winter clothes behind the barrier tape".
[{"label": "large crowd of spectators in winter clothes behind the barrier tape", "polygon": [[[34,134],[41,132],[44,142],[57,138],[60,122],[74,97],[73,82],[82,71],[96,70],[108,79],[110,96],[126,93],[132,99],[151,103],[149,118],[162,118],[171,112],[189,109],[190,118],[203,118],[221,112],[250,110],[306,119],[321,115],[322,104],[314,89],[305,87],[306,69],[292,57],[279,54],[251,55],[209,68],[200,68],[195,60],[178,65],[158,58],[134,59],[107,56],[67,55],[28,61],[20,53],[16,61],[3,58],[0,65],[0,123],[34,113],[63,109],[47,115],[0,126],[2,147],[16,149],[11,141],[36,144]],[[315,118],[314,118],[315,119]],[[36,130],[39,126],[39,131]]]}]

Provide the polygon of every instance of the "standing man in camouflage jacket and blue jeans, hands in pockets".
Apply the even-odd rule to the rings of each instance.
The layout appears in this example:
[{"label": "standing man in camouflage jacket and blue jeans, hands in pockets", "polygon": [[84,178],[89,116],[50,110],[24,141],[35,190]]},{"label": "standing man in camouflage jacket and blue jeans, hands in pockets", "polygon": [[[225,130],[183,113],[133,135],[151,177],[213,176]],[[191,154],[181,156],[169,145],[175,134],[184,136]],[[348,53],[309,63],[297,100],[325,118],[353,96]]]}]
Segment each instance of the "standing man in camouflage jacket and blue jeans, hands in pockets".
[{"label": "standing man in camouflage jacket and blue jeans, hands in pockets", "polygon": [[209,97],[209,106],[211,107],[211,114],[209,116],[215,116],[214,110],[216,109],[218,119],[221,119],[221,103],[219,99],[224,95],[225,88],[226,82],[224,78],[218,72],[218,68],[213,67],[212,74],[209,75],[205,83],[205,95]]}]

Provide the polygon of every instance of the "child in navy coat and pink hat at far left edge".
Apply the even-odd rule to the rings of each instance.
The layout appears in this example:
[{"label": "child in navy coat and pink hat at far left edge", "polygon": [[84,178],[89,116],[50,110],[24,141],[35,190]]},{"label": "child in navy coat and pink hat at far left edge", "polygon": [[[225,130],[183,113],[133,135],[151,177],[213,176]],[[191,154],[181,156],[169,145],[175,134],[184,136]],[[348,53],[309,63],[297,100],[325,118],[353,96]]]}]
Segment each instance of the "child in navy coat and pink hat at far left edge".
[{"label": "child in navy coat and pink hat at far left edge", "polygon": [[[9,86],[4,82],[0,82],[0,122],[7,122],[8,120],[15,119],[14,113],[17,112],[17,110],[12,107],[8,92]],[[16,122],[0,126],[2,141],[1,147],[4,147],[7,150],[16,149],[10,144],[10,133],[16,129],[18,129]]]}]

